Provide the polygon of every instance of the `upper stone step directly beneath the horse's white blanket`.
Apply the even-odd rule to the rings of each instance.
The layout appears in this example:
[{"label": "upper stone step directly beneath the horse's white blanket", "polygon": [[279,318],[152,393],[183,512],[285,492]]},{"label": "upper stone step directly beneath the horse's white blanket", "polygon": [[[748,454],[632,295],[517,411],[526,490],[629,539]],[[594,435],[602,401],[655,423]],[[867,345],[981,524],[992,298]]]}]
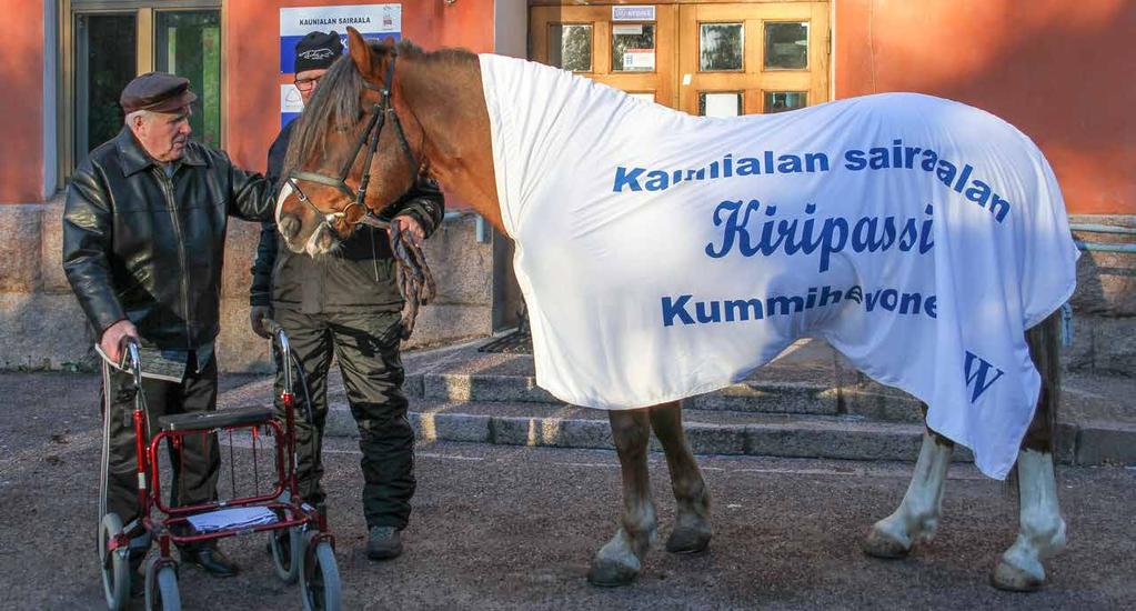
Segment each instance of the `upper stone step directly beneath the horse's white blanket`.
[{"label": "upper stone step directly beneath the horse's white blanket", "polygon": [[[404,390],[408,396],[431,401],[563,404],[537,386],[535,376],[524,374],[417,374],[407,376]],[[688,411],[857,416],[918,424],[922,421],[919,405],[911,395],[870,380],[835,386],[750,379],[691,397],[683,407]]]}]

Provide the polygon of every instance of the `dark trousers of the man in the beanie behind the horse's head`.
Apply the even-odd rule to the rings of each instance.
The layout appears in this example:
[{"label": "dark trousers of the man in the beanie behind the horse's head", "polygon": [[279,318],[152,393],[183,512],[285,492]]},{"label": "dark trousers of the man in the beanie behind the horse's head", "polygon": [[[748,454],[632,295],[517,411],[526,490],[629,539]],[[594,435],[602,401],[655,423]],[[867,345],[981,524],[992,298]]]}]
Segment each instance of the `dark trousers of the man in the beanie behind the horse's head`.
[{"label": "dark trousers of the man in the beanie behind the horse's head", "polygon": [[[309,502],[324,500],[320,451],[327,420],[327,373],[334,354],[343,374],[351,416],[359,427],[362,509],[367,527],[404,528],[410,519],[410,497],[415,494],[415,432],[407,419],[408,402],[402,393],[406,376],[399,355],[399,340],[383,340],[398,324],[400,313],[306,315],[277,308],[274,316],[284,327],[292,351],[303,365],[311,393],[315,426],[307,424],[302,411],[296,413],[296,479],[300,494]],[[284,375],[277,354],[277,396],[283,384]],[[295,392],[302,394],[299,386]],[[303,400],[302,396],[298,399]],[[276,409],[283,418],[279,400]],[[298,410],[302,410],[299,402]]]}]

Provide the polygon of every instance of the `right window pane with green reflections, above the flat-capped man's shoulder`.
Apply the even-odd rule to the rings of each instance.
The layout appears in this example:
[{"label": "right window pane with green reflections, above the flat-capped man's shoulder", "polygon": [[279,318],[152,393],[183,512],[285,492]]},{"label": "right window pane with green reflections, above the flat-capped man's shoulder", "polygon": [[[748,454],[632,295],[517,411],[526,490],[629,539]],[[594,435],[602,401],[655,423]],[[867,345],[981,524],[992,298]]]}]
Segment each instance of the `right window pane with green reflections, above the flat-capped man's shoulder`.
[{"label": "right window pane with green reflections, above the flat-capped man's shoulder", "polygon": [[159,11],[154,25],[154,68],[190,79],[193,137],[220,147],[220,11]]}]

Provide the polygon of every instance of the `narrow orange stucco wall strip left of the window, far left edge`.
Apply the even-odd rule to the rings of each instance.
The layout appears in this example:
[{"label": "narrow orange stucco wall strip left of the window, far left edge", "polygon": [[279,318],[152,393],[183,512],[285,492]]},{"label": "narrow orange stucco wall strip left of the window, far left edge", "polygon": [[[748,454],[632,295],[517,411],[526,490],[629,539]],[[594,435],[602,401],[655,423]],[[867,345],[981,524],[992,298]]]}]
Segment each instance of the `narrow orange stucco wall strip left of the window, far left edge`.
[{"label": "narrow orange stucco wall strip left of the window, far left edge", "polygon": [[43,11],[27,3],[0,0],[0,15],[20,16],[2,28],[0,203],[43,201]]}]

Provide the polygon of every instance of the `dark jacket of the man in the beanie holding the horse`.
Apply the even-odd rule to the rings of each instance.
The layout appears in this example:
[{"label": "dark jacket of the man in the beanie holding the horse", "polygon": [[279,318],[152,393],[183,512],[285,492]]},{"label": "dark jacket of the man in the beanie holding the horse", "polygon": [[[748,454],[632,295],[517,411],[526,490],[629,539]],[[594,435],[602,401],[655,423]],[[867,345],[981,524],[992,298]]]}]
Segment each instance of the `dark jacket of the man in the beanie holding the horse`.
[{"label": "dark jacket of the man in the beanie holding the horse", "polygon": [[[277,186],[294,126],[295,122],[284,126],[268,149],[267,176]],[[424,178],[384,214],[414,217],[428,237],[442,224],[445,201],[437,185]],[[275,221],[261,226],[249,294],[252,306],[309,315],[402,309],[386,232],[360,226],[335,253],[319,258],[292,252],[277,237]]]}]

